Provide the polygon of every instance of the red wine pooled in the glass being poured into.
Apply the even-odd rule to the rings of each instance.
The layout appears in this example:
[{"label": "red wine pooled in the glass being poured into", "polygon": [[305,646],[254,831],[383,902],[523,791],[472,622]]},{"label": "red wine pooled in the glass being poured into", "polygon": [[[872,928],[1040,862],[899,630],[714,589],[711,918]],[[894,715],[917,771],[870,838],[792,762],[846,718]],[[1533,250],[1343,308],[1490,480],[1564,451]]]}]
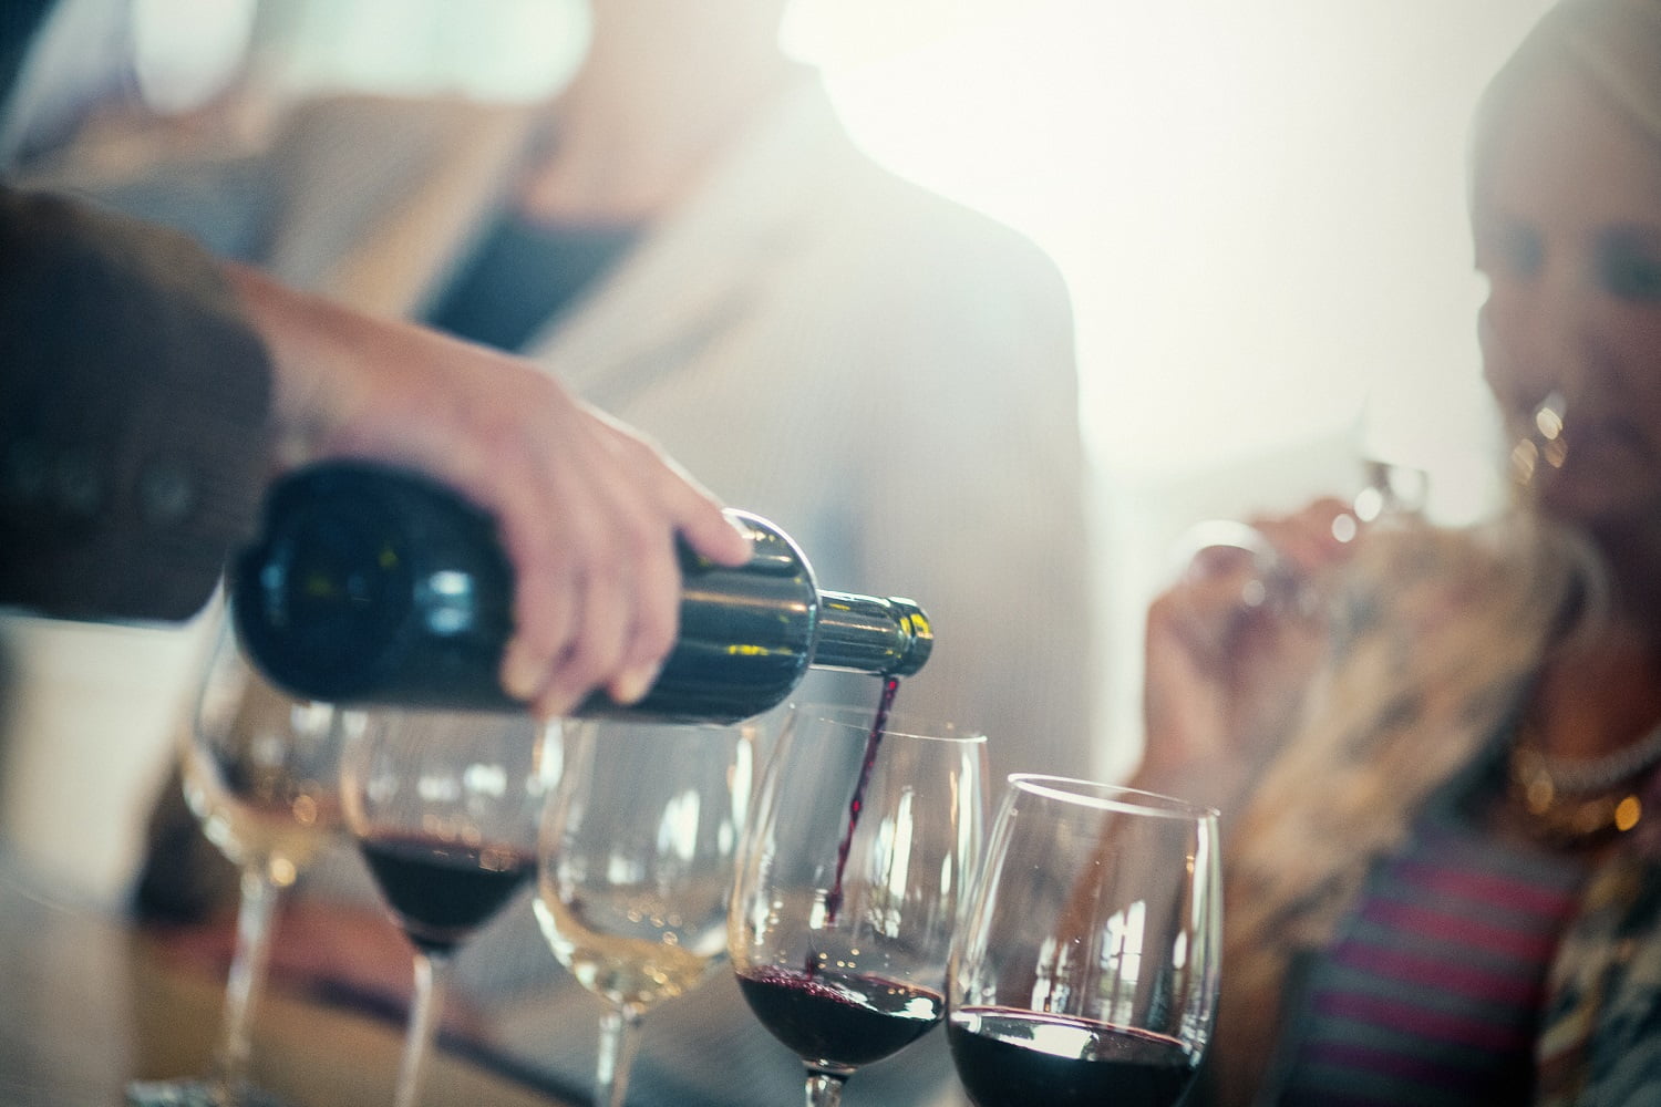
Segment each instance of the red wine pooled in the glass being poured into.
[{"label": "red wine pooled in the glass being poured into", "polygon": [[945,996],[915,984],[819,969],[762,966],[739,973],[762,1026],[801,1057],[864,1066],[897,1054],[945,1014]]}]

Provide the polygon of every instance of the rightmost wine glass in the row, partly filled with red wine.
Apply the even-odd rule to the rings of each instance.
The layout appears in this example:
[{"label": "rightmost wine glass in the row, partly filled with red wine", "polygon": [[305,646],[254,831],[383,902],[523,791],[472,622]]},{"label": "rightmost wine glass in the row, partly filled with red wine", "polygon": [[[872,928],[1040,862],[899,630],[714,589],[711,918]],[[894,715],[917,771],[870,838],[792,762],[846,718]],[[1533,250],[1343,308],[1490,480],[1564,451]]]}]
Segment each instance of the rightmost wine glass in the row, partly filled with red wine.
[{"label": "rightmost wine glass in the row, partly filled with red wine", "polygon": [[978,1107],[1171,1107],[1216,1017],[1218,815],[1010,777],[953,943],[947,1041]]}]

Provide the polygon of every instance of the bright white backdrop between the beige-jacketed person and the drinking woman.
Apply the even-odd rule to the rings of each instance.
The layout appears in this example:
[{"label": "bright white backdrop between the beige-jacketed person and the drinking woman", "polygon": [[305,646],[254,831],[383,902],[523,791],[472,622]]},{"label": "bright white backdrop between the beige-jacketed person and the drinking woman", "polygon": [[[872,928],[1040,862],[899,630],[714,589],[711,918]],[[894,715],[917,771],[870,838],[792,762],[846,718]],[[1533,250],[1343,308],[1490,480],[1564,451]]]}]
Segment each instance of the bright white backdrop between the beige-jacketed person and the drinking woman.
[{"label": "bright white backdrop between the beige-jacketed person and the drinking woman", "polygon": [[[1068,277],[1098,471],[1103,775],[1138,753],[1141,614],[1191,523],[1349,495],[1362,456],[1427,470],[1443,521],[1498,503],[1465,144],[1546,7],[982,0],[899,53],[860,56],[847,27],[829,40],[877,158],[1026,231]],[[845,18],[892,30],[882,8]]]}]

